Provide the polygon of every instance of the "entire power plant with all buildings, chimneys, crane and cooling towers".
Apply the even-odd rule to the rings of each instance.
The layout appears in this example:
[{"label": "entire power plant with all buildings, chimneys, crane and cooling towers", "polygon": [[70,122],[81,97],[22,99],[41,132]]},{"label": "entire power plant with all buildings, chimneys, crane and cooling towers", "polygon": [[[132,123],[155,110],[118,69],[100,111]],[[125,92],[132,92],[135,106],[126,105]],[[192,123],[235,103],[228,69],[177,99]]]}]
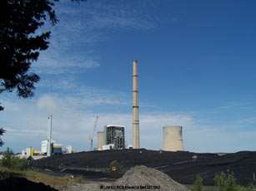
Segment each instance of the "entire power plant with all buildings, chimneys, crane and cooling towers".
[{"label": "entire power plant with all buildings, chimneys, crane and cooling towers", "polygon": [[[52,140],[52,120],[53,116],[48,116],[48,140],[43,140],[41,151],[34,151],[33,148],[23,150],[23,155],[42,154],[51,156],[52,154],[72,153],[72,146],[67,145],[63,152],[63,145],[56,144]],[[93,136],[98,122],[96,116],[93,134],[89,136],[90,150],[93,150]],[[183,127],[182,126],[164,126],[163,127],[163,148],[164,151],[184,150],[183,146]],[[94,150],[106,149],[140,149],[139,143],[139,116],[138,116],[138,62],[133,61],[133,145],[125,143],[125,126],[123,125],[105,125],[103,131],[99,131],[98,146]]]}]

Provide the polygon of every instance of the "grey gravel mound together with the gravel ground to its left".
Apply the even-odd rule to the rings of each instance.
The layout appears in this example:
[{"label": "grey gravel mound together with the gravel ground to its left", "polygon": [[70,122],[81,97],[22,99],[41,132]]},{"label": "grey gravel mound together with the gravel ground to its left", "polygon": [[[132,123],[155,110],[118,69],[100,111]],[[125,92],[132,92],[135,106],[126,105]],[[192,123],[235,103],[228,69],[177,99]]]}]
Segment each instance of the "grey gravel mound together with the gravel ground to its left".
[{"label": "grey gravel mound together with the gravel ground to its left", "polygon": [[[118,189],[119,188],[119,189]],[[115,183],[93,182],[91,184],[72,184],[63,191],[188,191],[182,184],[171,179],[157,169],[135,166],[129,169]]]}]

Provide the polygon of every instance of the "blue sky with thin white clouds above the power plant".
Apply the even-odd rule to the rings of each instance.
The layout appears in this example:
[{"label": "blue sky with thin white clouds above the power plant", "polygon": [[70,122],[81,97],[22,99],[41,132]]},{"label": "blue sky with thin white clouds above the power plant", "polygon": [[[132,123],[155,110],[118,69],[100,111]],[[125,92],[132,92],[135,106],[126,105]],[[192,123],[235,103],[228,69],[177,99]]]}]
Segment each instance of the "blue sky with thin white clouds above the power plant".
[{"label": "blue sky with thin white clouds above the power plant", "polygon": [[141,147],[161,149],[163,126],[182,125],[188,151],[254,150],[255,7],[253,0],[57,3],[59,22],[45,27],[50,47],[32,68],[41,76],[35,96],[0,95],[7,130],[0,150],[40,149],[49,114],[63,146],[88,150],[96,115],[97,131],[125,125],[132,144],[133,60]]}]

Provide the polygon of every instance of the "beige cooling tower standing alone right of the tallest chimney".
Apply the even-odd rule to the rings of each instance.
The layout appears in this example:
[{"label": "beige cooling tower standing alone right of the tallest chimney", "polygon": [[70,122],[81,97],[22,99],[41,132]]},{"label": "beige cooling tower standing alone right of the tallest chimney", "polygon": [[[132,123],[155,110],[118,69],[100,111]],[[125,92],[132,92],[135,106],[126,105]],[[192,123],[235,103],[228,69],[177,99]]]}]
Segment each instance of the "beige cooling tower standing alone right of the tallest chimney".
[{"label": "beige cooling tower standing alone right of the tallest chimney", "polygon": [[163,150],[165,151],[184,150],[182,126],[163,127]]}]

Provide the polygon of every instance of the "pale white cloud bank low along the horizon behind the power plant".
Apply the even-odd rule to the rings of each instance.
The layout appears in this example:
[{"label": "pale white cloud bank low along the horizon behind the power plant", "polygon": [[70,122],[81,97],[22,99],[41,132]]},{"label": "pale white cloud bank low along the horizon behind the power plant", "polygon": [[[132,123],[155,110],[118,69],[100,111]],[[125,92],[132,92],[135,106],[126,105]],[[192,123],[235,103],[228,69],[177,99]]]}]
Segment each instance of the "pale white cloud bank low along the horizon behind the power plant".
[{"label": "pale white cloud bank low along the horizon behind the power plant", "polygon": [[[97,131],[102,131],[104,125],[125,125],[125,135],[128,144],[132,144],[132,113],[103,113],[90,110],[79,110],[73,106],[74,100],[45,95],[38,100],[13,102],[4,100],[3,104],[12,101],[20,110],[7,110],[0,115],[3,127],[7,132],[3,136],[5,145],[16,152],[27,146],[40,149],[41,140],[47,138],[48,109],[53,110],[53,140],[63,146],[72,144],[76,150],[88,150],[88,136],[93,133],[96,115],[99,115]],[[39,108],[38,108],[38,105]],[[55,105],[55,106],[53,106]],[[44,110],[41,110],[43,108]],[[47,110],[47,111],[45,111]],[[3,120],[4,119],[4,120]],[[15,119],[15,120],[13,120]],[[241,149],[253,149],[256,131],[243,132],[226,130],[213,125],[199,125],[195,116],[185,112],[153,112],[140,113],[140,143],[146,149],[161,149],[163,146],[163,126],[182,125],[183,142],[186,150],[195,152],[234,152]],[[208,122],[210,124],[211,121]],[[235,123],[235,121],[234,121]],[[225,124],[223,124],[225,126]],[[94,137],[94,147],[97,146],[97,135]]]}]

